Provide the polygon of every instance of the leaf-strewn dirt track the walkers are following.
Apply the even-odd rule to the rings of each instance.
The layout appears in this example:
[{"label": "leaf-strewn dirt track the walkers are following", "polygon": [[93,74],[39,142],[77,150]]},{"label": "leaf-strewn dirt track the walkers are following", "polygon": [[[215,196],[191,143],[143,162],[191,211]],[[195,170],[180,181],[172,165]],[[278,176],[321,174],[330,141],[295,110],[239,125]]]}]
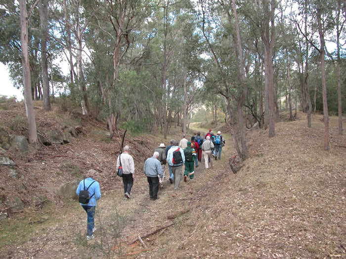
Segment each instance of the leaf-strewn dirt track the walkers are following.
[{"label": "leaf-strewn dirt track the walkers are following", "polygon": [[[199,129],[201,130],[201,129]],[[205,129],[204,129],[205,131]],[[201,133],[202,135],[202,133]],[[227,144],[230,143],[227,140]],[[111,191],[102,192],[96,207],[95,236],[86,242],[87,215],[76,201],[65,204],[56,216],[36,225],[35,233],[21,244],[14,243],[1,252],[3,258],[117,258],[119,255],[135,256],[143,250],[137,245],[129,245],[138,235],[174,223],[167,215],[181,209],[196,206],[199,196],[207,195],[213,187],[213,178],[227,166],[229,147],[222,149],[221,160],[214,161],[214,168],[206,170],[204,158],[195,168],[195,178],[187,183],[181,181],[180,190],[174,191],[169,182],[167,170],[164,188],[159,191],[157,201],[149,200],[149,190],[144,174],[134,175],[131,198],[123,197],[123,186],[119,183]],[[140,166],[140,165],[136,165]],[[170,226],[174,232],[175,226]],[[177,229],[176,229],[177,230]],[[177,230],[178,231],[178,230]],[[153,236],[144,243],[157,246]],[[49,255],[49,256],[48,256]]]}]

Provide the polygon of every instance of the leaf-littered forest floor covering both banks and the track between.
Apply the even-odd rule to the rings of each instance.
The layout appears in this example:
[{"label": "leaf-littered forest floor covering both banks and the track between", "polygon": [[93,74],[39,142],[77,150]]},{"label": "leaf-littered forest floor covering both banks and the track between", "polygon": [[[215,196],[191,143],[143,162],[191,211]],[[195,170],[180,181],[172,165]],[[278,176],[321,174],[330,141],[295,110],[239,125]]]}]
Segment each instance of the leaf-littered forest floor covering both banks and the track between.
[{"label": "leaf-littered forest floor covering both banks and the track between", "polygon": [[[10,134],[22,129],[23,108],[0,111],[1,126]],[[39,126],[59,125],[59,112],[36,112]],[[179,130],[168,140],[159,133],[127,134],[136,170],[125,200],[115,174],[120,137],[107,139],[100,134],[104,122],[82,116],[77,122],[84,134],[71,143],[32,149],[26,156],[9,153],[18,179],[0,167],[1,197],[18,194],[22,179],[25,204],[35,204],[33,196],[46,197],[0,222],[0,258],[346,258],[346,138],[337,134],[337,117],[330,117],[331,149],[323,150],[322,118],[313,114],[307,128],[306,114],[299,112],[291,122],[283,113],[270,139],[263,129],[248,131],[248,158],[238,174],[228,165],[235,153],[232,136],[222,134],[226,146],[214,168],[206,170],[202,157],[195,179],[182,181],[178,191],[167,172],[160,199],[151,201],[143,163],[160,143],[180,139]],[[190,127],[207,131],[200,123]],[[226,131],[224,125],[212,129]],[[95,239],[87,242],[85,211],[76,199],[61,197],[59,187],[70,182],[77,188],[90,168],[99,172],[102,197]],[[131,244],[138,236],[146,247]]]}]

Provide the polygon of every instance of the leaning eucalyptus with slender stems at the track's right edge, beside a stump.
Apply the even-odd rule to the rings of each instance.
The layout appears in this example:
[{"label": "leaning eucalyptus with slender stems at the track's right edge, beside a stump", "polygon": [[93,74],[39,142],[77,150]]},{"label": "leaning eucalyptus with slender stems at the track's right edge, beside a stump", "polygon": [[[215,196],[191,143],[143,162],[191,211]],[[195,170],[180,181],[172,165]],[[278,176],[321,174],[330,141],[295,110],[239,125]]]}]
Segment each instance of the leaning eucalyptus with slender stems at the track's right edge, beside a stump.
[{"label": "leaning eucalyptus with slender stems at the track's right edge, beside a stump", "polygon": [[[214,2],[200,0],[201,28],[206,44],[210,50],[210,56],[214,60],[214,71],[209,70],[206,80],[215,81],[219,94],[224,96],[227,110],[230,115],[230,127],[233,133],[234,146],[242,159],[247,157],[247,146],[245,139],[245,127],[243,118],[243,105],[245,104],[248,91],[247,78],[245,74],[245,63],[249,57],[247,49],[243,44],[240,31],[246,33],[244,23],[238,20],[235,1]],[[220,13],[217,16],[217,11]],[[215,30],[218,28],[218,30]],[[229,55],[233,52],[234,55]],[[250,62],[251,63],[251,62]],[[211,84],[213,85],[213,84]],[[233,100],[233,101],[232,101]],[[238,115],[238,127],[240,132],[241,148],[238,144],[238,133],[234,124],[232,103],[236,103],[236,114]]]}]

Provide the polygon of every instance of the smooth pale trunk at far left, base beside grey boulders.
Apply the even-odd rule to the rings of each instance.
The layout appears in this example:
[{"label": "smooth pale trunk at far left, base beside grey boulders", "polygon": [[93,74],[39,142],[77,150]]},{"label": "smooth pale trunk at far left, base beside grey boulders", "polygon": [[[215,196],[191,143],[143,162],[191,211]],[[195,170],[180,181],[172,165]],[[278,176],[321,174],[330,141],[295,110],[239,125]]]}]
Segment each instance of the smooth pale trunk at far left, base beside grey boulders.
[{"label": "smooth pale trunk at far left, base beside grey boulders", "polygon": [[36,120],[33,107],[33,99],[31,95],[31,77],[30,77],[30,63],[28,51],[28,20],[29,16],[26,9],[26,1],[19,0],[20,9],[20,40],[22,50],[22,66],[23,66],[23,84],[24,84],[24,101],[26,116],[28,119],[28,135],[29,143],[37,145],[37,129]]}]

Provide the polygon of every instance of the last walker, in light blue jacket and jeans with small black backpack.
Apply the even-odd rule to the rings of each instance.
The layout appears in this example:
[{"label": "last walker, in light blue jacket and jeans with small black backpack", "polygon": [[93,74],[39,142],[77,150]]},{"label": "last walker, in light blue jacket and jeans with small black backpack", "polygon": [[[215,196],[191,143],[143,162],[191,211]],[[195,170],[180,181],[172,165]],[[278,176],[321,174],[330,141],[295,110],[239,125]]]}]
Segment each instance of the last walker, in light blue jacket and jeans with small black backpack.
[{"label": "last walker, in light blue jacket and jeans with small black backpack", "polygon": [[101,198],[100,185],[94,180],[97,176],[97,171],[90,169],[87,171],[87,178],[82,180],[77,187],[77,195],[79,196],[82,190],[89,191],[89,201],[87,204],[80,203],[82,208],[87,212],[87,240],[94,238],[93,232],[95,231],[95,208],[97,200]]}]

